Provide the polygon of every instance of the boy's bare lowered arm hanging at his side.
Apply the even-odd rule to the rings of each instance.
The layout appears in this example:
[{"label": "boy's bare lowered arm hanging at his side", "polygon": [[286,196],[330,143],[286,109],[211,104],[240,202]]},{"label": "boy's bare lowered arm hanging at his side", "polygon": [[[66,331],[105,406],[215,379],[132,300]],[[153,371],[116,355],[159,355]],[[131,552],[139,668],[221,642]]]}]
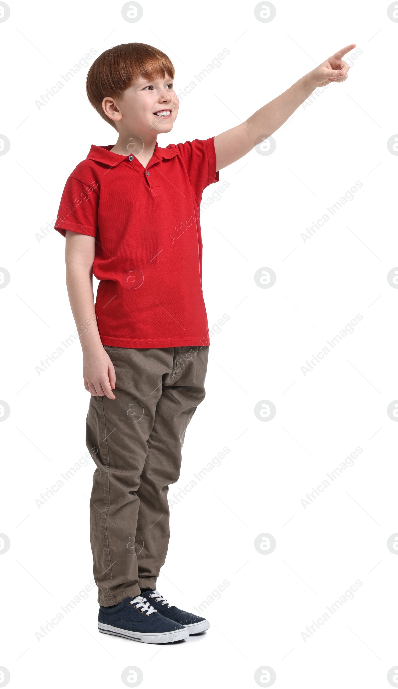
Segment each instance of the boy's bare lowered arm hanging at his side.
[{"label": "boy's bare lowered arm hanging at his side", "polygon": [[112,392],[115,369],[103,348],[96,324],[92,289],[95,239],[70,230],[66,231],[65,239],[67,294],[83,349],[84,387],[92,395],[107,395],[115,400]]}]

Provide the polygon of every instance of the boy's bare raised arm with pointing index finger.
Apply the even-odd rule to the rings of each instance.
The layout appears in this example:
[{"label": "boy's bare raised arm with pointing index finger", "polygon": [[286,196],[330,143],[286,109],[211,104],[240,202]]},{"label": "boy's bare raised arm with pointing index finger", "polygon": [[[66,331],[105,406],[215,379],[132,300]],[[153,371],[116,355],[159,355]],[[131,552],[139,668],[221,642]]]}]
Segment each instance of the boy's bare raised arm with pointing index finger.
[{"label": "boy's bare raised arm with pointing index finger", "polygon": [[[296,81],[287,91],[277,96],[273,101],[261,107],[246,122],[238,127],[233,127],[227,132],[222,132],[214,137],[216,149],[217,169],[227,167],[245,156],[257,143],[268,138],[279,129],[297,107],[304,103],[308,96],[318,86],[324,86],[332,81],[339,83],[346,81],[348,76],[348,64],[343,56],[355,48],[356,43],[347,45],[346,48],[337,51],[328,60],[308,72],[302,79]],[[257,140],[257,141],[256,141]]]}]

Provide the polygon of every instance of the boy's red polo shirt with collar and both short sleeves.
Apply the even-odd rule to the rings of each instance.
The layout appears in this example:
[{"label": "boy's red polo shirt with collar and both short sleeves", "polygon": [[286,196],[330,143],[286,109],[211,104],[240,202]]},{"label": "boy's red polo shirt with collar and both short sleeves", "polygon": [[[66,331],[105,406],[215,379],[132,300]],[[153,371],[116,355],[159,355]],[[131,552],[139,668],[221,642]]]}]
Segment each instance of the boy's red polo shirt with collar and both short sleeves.
[{"label": "boy's red polo shirt with collar and both short sleeves", "polygon": [[61,198],[55,229],[95,237],[103,345],[209,345],[202,294],[202,192],[218,182],[214,137],[136,156],[92,146]]}]

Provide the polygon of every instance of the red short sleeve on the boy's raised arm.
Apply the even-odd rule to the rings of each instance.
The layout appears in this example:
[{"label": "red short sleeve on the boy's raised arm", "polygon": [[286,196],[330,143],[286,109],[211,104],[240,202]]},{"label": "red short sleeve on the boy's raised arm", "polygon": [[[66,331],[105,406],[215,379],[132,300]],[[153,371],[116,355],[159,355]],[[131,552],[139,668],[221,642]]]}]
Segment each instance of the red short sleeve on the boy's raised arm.
[{"label": "red short sleeve on the boy's raised arm", "polygon": [[216,172],[216,150],[214,136],[207,139],[194,139],[185,143],[171,144],[167,148],[175,147],[187,169],[189,182],[195,192],[198,203],[202,200],[203,189],[218,182]]}]

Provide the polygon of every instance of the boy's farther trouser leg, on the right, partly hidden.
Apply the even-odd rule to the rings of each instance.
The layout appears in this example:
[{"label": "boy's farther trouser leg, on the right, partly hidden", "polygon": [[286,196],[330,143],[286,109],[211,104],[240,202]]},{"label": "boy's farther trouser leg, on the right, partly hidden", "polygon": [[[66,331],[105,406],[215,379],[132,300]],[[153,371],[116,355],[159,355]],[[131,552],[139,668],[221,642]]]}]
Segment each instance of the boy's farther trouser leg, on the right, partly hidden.
[{"label": "boy's farther trouser leg, on the right, partly hidden", "polygon": [[138,583],[156,589],[169,545],[169,484],[178,481],[181,449],[187,425],[205,398],[209,347],[178,347],[171,376],[163,384],[154,426],[147,441],[148,454],[140,476],[136,528]]}]

